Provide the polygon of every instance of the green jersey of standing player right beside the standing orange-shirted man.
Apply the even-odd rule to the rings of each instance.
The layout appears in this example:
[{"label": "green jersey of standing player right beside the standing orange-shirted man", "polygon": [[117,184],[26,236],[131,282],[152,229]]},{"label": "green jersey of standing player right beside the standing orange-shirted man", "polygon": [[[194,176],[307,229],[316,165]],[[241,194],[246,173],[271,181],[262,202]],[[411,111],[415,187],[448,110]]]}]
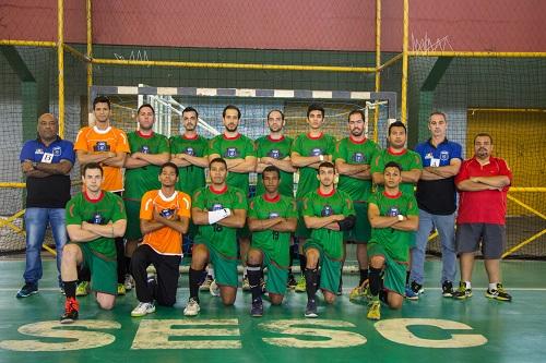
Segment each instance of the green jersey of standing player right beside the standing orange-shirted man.
[{"label": "green jersey of standing player right beside the standing orange-shirted man", "polygon": [[[169,146],[167,137],[161,134],[152,133],[151,136],[144,136],[139,131],[127,135],[131,154],[162,154],[168,153]],[[124,199],[140,201],[142,195],[151,190],[161,189],[162,184],[157,179],[159,167],[149,165],[141,168],[126,169],[126,190]]]}]

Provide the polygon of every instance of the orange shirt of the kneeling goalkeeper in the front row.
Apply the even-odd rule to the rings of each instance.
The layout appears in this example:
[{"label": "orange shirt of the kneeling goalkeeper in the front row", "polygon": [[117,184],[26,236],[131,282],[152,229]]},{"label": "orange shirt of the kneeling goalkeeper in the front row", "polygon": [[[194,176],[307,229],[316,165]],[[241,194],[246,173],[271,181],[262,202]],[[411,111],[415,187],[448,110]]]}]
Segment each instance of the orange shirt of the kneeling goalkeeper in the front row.
[{"label": "orange shirt of the kneeling goalkeeper in the front row", "polygon": [[[152,220],[154,208],[169,219],[173,219],[175,215],[190,218],[191,197],[178,191],[168,198],[161,190],[146,192],[142,196],[140,218]],[[182,233],[167,226],[144,234],[143,243],[162,255],[182,254]]]}]

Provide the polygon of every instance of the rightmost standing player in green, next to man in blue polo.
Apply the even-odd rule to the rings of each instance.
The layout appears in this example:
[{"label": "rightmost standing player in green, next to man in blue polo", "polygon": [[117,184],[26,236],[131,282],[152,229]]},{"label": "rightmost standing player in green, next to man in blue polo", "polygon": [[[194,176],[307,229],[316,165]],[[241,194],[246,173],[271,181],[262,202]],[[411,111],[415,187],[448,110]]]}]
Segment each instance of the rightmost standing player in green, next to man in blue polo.
[{"label": "rightmost standing player in green, next to man in blue polo", "polygon": [[[423,162],[420,156],[407,149],[406,144],[407,130],[405,124],[400,121],[393,122],[389,125],[389,147],[384,150],[379,150],[373,157],[371,165],[371,179],[379,190],[383,190],[384,166],[389,161],[394,161],[402,168],[402,183],[399,189],[402,193],[414,195],[414,186],[419,181]],[[410,249],[415,246],[415,234],[408,234]],[[410,269],[406,274],[406,298],[410,300],[418,300],[419,294],[410,288]]]}]

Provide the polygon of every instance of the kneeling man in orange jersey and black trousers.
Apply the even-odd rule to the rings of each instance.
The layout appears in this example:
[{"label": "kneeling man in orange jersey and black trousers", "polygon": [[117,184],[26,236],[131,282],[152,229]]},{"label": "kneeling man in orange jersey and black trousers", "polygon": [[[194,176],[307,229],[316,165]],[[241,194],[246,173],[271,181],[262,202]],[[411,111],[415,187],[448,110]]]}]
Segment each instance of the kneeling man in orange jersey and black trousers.
[{"label": "kneeling man in orange jersey and black trousers", "polygon": [[[191,197],[175,190],[177,181],[178,167],[165,162],[159,170],[162,189],[149,191],[142,197],[140,228],[144,238],[131,262],[139,305],[131,316],[155,312],[154,300],[164,306],[176,302],[182,234],[188,232],[191,210]],[[146,277],[150,265],[155,267],[157,281]]]}]

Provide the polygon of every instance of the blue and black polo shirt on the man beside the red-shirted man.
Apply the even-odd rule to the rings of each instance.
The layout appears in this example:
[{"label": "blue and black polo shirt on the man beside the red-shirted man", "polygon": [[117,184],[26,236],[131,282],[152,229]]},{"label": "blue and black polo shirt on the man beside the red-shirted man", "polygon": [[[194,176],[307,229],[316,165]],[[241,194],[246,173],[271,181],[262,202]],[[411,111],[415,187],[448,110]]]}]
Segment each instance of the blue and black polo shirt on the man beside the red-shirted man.
[{"label": "blue and black polo shirt on the man beside the red-shirted man", "polygon": [[[415,152],[423,160],[423,167],[447,167],[452,159],[463,159],[462,146],[447,138],[432,145],[431,140],[418,144]],[[419,209],[434,215],[450,215],[456,209],[455,178],[419,180],[415,197]]]}]

